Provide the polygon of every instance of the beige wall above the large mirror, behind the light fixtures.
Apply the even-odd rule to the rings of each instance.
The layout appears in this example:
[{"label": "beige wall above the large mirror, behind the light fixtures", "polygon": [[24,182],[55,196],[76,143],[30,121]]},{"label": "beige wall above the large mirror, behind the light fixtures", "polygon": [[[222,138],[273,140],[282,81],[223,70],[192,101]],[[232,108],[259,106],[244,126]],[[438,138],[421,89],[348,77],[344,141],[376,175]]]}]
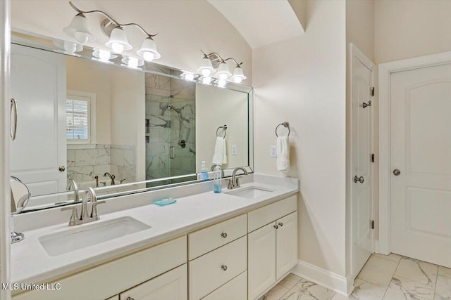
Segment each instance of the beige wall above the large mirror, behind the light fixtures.
[{"label": "beige wall above the large mirror, behind the light fixtures", "polygon": [[[90,0],[75,1],[85,11],[105,11],[120,22],[137,22],[152,34],[161,53],[156,63],[181,70],[195,71],[202,60],[202,52],[218,52],[226,58],[244,62],[247,75],[244,84],[252,84],[252,51],[247,41],[216,8],[205,0]],[[63,28],[68,26],[75,11],[68,1],[14,0],[11,1],[12,26],[48,37],[68,39]],[[97,38],[89,44],[104,47],[108,40],[101,32],[99,15],[88,15],[91,31]],[[127,53],[135,55],[143,34],[128,29],[128,40],[135,48]],[[231,66],[231,65],[230,65]]]}]

